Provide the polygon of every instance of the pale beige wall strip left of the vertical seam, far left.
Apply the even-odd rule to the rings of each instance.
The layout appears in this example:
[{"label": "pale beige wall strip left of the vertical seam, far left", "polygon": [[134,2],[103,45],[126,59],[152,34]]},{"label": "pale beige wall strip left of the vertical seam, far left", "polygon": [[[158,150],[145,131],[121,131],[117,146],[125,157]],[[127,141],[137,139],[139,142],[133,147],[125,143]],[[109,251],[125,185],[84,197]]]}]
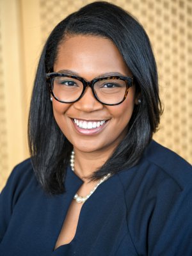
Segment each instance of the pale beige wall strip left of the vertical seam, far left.
[{"label": "pale beige wall strip left of the vertical seam, far left", "polygon": [[26,158],[24,132],[23,48],[18,0],[0,0],[1,100],[0,190],[13,167]]}]

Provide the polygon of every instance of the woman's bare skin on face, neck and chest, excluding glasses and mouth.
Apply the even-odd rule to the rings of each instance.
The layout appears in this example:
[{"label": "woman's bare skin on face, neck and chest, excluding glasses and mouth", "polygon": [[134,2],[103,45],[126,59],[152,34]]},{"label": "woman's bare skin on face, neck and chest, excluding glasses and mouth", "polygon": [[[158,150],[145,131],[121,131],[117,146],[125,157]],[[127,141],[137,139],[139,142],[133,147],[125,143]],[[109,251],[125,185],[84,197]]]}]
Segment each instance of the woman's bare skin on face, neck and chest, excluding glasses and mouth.
[{"label": "woman's bare skin on face, neck and chest, excluding glasses and mouth", "polygon": [[[109,72],[113,72],[114,76],[116,74],[132,77],[113,42],[95,36],[68,38],[60,46],[54,72],[74,74],[86,81],[91,81],[95,77],[110,76],[106,74]],[[74,146],[75,173],[84,181],[77,191],[79,196],[88,195],[98,182],[88,182],[85,176],[99,168],[127,134],[134,104],[138,104],[140,99],[140,95],[136,95],[135,91],[135,86],[132,86],[124,102],[116,106],[106,106],[98,102],[90,88],[86,88],[83,97],[72,104],[63,104],[52,99],[56,122]],[[71,118],[109,121],[97,134],[87,136],[76,131]],[[54,249],[70,243],[74,238],[83,204],[77,204],[76,200],[72,200]]]}]

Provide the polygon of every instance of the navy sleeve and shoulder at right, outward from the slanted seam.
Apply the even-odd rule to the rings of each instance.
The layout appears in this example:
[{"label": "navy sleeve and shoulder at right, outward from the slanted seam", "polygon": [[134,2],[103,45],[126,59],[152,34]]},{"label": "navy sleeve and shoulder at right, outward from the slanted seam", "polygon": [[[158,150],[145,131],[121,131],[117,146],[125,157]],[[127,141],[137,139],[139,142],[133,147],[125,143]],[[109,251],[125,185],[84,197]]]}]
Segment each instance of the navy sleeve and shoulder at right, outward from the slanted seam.
[{"label": "navy sleeve and shoulder at right, outward from the slanted seam", "polygon": [[138,254],[191,255],[191,164],[152,140],[140,162],[118,176]]}]

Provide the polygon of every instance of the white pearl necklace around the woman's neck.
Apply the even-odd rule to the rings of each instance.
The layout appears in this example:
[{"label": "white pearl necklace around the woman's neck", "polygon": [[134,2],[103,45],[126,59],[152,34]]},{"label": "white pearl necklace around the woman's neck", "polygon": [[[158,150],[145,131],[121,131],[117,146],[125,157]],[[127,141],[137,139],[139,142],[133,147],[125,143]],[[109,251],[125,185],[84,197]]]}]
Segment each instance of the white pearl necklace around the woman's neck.
[{"label": "white pearl necklace around the woman's neck", "polygon": [[[75,168],[75,152],[74,150],[72,150],[72,154],[70,155],[70,167],[72,168],[72,171],[74,172],[74,168]],[[98,188],[98,186],[104,182],[104,180],[107,180],[109,177],[111,176],[111,173],[108,173],[108,175],[104,176],[102,179],[100,179],[100,181],[97,183],[97,186],[95,186],[93,188],[93,190],[90,191],[89,195],[86,195],[85,197],[81,197],[79,195],[74,195],[74,199],[76,199],[77,203],[83,203],[85,202],[92,194],[93,192]]]}]

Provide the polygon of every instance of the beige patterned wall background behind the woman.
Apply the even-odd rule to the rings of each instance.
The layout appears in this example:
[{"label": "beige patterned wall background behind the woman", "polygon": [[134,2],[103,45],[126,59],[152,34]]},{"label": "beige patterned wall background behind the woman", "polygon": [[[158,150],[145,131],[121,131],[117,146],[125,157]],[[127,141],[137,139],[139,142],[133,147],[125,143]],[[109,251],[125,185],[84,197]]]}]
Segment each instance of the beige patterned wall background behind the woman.
[{"label": "beige patterned wall background behind the woman", "polygon": [[[44,42],[61,19],[90,2],[0,0],[0,191],[13,166],[29,157],[29,102]],[[192,164],[192,1],[110,2],[137,17],[154,47],[164,105],[154,139]]]}]

